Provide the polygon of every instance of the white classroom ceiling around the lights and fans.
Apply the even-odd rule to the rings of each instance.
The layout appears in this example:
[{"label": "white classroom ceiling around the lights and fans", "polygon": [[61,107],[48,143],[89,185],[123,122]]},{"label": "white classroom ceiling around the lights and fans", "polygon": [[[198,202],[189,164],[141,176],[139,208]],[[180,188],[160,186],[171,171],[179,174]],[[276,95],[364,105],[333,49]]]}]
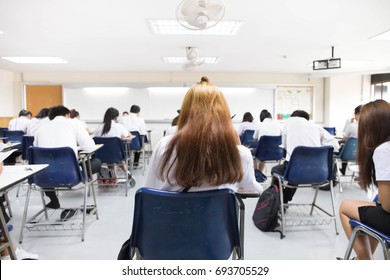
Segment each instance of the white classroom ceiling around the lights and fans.
[{"label": "white classroom ceiling around the lights and fans", "polygon": [[[184,71],[163,56],[219,56],[198,72],[390,72],[390,0],[225,0],[224,19],[242,20],[235,36],[157,35],[150,18],[174,19],[181,0],[0,0],[0,57],[56,56],[60,65],[0,59],[0,69],[32,71]],[[342,68],[313,71],[334,56]],[[348,66],[353,65],[353,67]]]}]

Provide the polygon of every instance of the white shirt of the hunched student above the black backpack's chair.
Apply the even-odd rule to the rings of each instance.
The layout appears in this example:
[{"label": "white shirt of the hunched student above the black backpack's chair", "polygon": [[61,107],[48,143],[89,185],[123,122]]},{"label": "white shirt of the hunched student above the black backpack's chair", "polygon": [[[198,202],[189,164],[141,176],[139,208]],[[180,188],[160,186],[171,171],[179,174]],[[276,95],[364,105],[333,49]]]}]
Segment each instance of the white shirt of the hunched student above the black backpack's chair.
[{"label": "white shirt of the hunched student above the black backpack's chair", "polygon": [[293,150],[298,146],[321,147],[332,146],[339,150],[339,143],[322,126],[302,117],[289,118],[283,128],[282,147],[286,149],[286,160],[289,161]]}]

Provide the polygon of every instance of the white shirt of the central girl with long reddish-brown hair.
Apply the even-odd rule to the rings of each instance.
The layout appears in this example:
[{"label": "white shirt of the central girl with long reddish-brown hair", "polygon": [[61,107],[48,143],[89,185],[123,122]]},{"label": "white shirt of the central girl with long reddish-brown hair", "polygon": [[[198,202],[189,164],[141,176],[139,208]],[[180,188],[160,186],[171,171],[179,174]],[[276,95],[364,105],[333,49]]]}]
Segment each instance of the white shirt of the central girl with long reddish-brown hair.
[{"label": "white shirt of the central girl with long reddish-brown hair", "polygon": [[[146,174],[145,179],[145,187],[148,188],[155,188],[155,189],[161,189],[161,190],[167,190],[167,191],[182,191],[183,187],[178,185],[171,185],[168,180],[161,180],[158,178],[157,174],[159,172],[158,166],[161,163],[163,154],[165,150],[167,149],[167,146],[169,142],[172,139],[171,136],[165,136],[161,138],[156,146],[153,149],[153,154],[150,159],[150,164],[148,167],[148,172]],[[204,182],[199,187],[190,188],[189,191],[206,191],[206,190],[215,190],[215,189],[224,189],[228,188],[233,191],[237,191],[238,189],[248,192],[263,192],[263,187],[260,183],[256,181],[255,174],[254,174],[254,167],[253,167],[253,158],[250,150],[242,145],[238,145],[237,149],[240,153],[241,157],[241,164],[243,168],[243,178],[240,182],[234,183],[234,184],[224,184],[220,186],[211,186],[207,182]],[[175,156],[173,155],[172,158]],[[175,172],[175,166],[173,166],[171,171],[171,176]],[[173,178],[170,178],[171,182],[174,182]]]}]

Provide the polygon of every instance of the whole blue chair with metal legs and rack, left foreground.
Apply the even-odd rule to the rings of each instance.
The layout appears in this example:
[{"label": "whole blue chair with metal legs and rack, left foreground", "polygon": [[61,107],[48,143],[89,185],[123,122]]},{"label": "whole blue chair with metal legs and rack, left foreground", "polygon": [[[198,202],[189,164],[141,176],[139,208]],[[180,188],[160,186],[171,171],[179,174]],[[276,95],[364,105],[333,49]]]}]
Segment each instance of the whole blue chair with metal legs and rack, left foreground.
[{"label": "whole blue chair with metal legs and rack, left foreground", "polygon": [[[94,188],[89,184],[88,180],[84,179],[73,149],[70,147],[30,147],[28,149],[27,158],[29,164],[49,164],[49,166],[29,179],[19,243],[23,242],[23,233],[26,229],[30,231],[69,231],[78,229],[81,230],[81,240],[84,241],[87,208],[91,211],[91,214],[96,214],[96,219],[99,217]],[[93,204],[87,206],[88,187],[90,186]],[[30,218],[27,218],[31,191],[33,190],[41,192],[43,207]],[[49,208],[46,208],[44,191],[54,191],[58,193],[65,191],[83,191],[82,206],[78,204],[73,208],[77,212],[74,217],[69,220],[56,218],[56,210],[49,210]],[[81,220],[77,219],[77,217],[80,216],[78,215],[79,210],[82,212]],[[49,211],[54,211],[54,213],[50,213],[49,215]]]}]

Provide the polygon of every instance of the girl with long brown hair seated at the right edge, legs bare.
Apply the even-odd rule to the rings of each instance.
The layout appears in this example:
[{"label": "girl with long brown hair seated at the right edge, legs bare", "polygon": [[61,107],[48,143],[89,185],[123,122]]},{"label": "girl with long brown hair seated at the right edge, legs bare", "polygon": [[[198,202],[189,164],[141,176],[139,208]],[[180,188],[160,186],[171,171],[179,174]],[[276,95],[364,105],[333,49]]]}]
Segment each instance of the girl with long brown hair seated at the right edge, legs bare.
[{"label": "girl with long brown hair seated at the right edge, legs bare", "polygon": [[[363,105],[359,117],[359,184],[367,191],[378,189],[379,202],[344,200],[340,220],[348,239],[352,234],[350,219],[359,220],[390,235],[390,104],[375,100]],[[378,242],[367,235],[358,236],[354,250],[359,260],[373,259]]]}]

